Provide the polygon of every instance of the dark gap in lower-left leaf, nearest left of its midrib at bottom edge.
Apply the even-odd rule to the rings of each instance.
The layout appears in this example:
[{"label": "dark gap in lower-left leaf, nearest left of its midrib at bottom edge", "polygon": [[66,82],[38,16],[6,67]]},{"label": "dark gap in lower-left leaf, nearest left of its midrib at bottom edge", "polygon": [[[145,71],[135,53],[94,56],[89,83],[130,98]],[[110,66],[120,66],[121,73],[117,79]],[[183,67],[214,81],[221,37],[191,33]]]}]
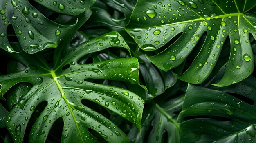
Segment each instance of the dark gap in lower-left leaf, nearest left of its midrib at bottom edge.
[{"label": "dark gap in lower-left leaf, nearest left of its midrib at bottom edge", "polygon": [[[63,119],[61,117],[58,118],[54,122],[52,127],[48,127],[48,128],[51,128],[51,130],[49,131],[46,141],[51,141],[51,143],[61,143],[61,136],[64,128]],[[65,135],[66,134],[64,134],[64,136]]]}]

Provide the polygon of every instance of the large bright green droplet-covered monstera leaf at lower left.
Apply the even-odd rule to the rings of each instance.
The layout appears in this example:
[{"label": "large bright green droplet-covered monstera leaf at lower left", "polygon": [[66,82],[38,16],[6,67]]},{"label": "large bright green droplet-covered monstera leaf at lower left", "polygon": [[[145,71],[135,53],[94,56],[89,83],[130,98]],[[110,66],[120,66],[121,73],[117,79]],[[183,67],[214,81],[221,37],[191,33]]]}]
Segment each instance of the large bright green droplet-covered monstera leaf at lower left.
[{"label": "large bright green droplet-covered monstera leaf at lower left", "polygon": [[[47,62],[47,56],[40,55],[41,53],[10,53],[24,68],[0,77],[1,95],[18,83],[32,85],[5,119],[14,141],[22,142],[32,113],[45,101],[47,105],[31,129],[31,143],[44,142],[52,125],[59,118],[64,121],[61,138],[64,143],[97,142],[89,129],[96,131],[108,142],[129,142],[122,130],[103,115],[83,105],[82,100],[97,103],[119,114],[140,130],[144,101],[138,95],[116,86],[89,82],[90,79],[110,79],[139,84],[137,59],[110,59],[90,64],[84,61],[87,55],[110,47],[130,51],[124,39],[119,33],[111,32],[87,42],[74,42],[82,43],[71,44],[72,46],[63,43],[55,50],[53,64]],[[24,93],[27,89],[20,92]]]}]

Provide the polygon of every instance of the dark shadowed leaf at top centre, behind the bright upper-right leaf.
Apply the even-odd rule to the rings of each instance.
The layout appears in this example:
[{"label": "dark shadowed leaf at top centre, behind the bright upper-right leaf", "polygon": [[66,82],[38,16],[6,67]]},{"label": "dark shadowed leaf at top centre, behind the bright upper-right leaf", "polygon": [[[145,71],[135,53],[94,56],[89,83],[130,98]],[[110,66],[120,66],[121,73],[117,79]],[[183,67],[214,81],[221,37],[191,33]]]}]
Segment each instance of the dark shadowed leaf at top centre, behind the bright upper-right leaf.
[{"label": "dark shadowed leaf at top centre, behind the bright upper-right leaf", "polygon": [[119,32],[129,43],[134,40],[124,30],[135,6],[132,0],[98,0],[91,8],[92,16],[81,27],[88,37],[97,37],[110,31]]}]

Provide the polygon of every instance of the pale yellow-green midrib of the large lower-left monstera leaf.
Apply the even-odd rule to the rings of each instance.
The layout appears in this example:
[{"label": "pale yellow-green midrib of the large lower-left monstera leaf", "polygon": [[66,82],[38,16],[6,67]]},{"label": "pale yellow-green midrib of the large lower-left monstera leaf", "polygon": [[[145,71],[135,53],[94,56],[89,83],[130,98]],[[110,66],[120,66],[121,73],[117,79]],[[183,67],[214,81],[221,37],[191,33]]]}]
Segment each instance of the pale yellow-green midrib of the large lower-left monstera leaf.
[{"label": "pale yellow-green midrib of the large lower-left monstera leaf", "polygon": [[[54,73],[53,70],[51,70],[51,75],[52,75],[52,78],[54,79],[54,82],[55,82],[56,86],[58,87],[58,90],[59,90],[60,93],[61,93],[61,98],[64,99],[65,103],[67,104],[67,107],[69,108],[69,110],[70,110],[70,112],[71,112],[71,115],[72,115],[72,117],[73,117],[73,119],[74,119],[74,122],[75,122],[75,124],[76,124],[76,128],[77,128],[77,130],[78,130],[78,132],[79,132],[79,135],[80,135],[80,137],[81,137],[81,141],[83,142],[82,134],[81,134],[81,132],[80,132],[79,125],[77,124],[76,117],[75,117],[74,112],[73,112],[73,109],[74,109],[74,108],[72,108],[72,106],[70,105],[70,103],[69,103],[68,100],[67,100],[67,97],[65,96],[65,92],[62,90],[62,86],[61,86],[60,82],[58,81],[58,78],[59,78],[59,77],[56,76],[56,74]],[[84,143],[84,142],[83,142],[83,143]]]}]

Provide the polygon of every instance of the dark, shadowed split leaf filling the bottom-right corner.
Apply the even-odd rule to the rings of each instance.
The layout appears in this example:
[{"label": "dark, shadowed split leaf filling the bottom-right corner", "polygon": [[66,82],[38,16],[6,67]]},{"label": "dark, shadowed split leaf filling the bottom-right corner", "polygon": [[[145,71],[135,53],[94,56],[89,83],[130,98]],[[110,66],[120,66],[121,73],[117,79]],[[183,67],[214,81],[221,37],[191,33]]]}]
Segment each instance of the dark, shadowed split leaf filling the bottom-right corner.
[{"label": "dark, shadowed split leaf filling the bottom-right corner", "polygon": [[223,88],[189,84],[179,114],[183,143],[255,142],[256,79]]}]

